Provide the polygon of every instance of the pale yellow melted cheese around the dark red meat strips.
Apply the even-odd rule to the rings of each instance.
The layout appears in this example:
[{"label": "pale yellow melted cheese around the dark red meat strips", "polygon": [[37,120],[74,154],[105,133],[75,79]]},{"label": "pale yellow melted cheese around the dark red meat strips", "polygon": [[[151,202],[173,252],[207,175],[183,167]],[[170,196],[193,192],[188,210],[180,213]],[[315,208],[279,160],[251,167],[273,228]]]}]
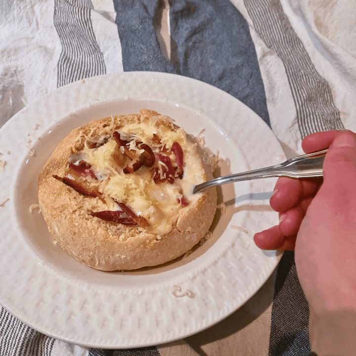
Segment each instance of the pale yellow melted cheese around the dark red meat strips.
[{"label": "pale yellow melted cheese around the dark red meat strips", "polygon": [[184,175],[182,179],[175,179],[173,184],[167,181],[156,184],[151,178],[150,168],[146,167],[141,167],[133,174],[124,174],[115,156],[121,151],[112,139],[99,148],[85,148],[81,155],[96,175],[105,178],[100,191],[105,197],[107,210],[120,209],[114,199],[122,202],[136,215],[147,220],[150,226],[146,231],[163,235],[172,230],[179,210],[184,209],[180,199],[184,196],[190,205],[199,198],[199,194],[192,194],[192,188],[204,181],[204,169],[196,144],[187,139],[183,130],[171,131],[169,127],[157,123],[153,120],[139,125],[128,124],[121,131],[149,145],[153,134],[157,134],[167,147],[171,147],[174,142],[180,144],[184,157]]}]

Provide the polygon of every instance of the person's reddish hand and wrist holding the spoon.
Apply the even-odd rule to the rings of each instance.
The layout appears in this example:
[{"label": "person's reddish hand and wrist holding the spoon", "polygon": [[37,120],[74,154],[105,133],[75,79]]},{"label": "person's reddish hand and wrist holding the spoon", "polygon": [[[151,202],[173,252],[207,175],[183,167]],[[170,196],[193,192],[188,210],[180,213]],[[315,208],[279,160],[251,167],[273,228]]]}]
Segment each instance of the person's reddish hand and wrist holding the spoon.
[{"label": "person's reddish hand and wrist holding the spoon", "polygon": [[255,242],[267,249],[295,247],[312,351],[356,355],[356,134],[317,133],[302,143],[306,152],[328,146],[322,183],[278,179],[270,204],[281,222],[256,234]]}]

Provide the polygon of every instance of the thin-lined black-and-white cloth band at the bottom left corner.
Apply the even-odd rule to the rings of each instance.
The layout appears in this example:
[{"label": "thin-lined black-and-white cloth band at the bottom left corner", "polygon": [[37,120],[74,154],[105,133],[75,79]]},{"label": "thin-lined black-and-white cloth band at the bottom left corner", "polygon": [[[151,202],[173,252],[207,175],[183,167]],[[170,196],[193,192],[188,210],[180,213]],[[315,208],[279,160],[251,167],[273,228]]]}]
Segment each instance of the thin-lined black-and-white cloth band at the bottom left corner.
[{"label": "thin-lined black-and-white cloth band at the bottom left corner", "polygon": [[5,309],[0,310],[1,356],[50,356],[55,339],[31,329]]}]

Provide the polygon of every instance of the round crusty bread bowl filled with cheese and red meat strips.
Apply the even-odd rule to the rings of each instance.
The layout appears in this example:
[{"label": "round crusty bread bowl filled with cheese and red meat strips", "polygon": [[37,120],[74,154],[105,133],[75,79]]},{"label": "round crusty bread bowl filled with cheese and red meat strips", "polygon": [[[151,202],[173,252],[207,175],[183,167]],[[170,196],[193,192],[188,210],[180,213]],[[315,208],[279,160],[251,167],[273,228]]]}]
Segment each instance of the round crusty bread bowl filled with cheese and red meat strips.
[{"label": "round crusty bread bowl filled with cheese and red meat strips", "polygon": [[201,140],[152,110],[73,130],[38,180],[39,205],[56,243],[106,271],[157,266],[183,255],[213,221],[214,156]]}]

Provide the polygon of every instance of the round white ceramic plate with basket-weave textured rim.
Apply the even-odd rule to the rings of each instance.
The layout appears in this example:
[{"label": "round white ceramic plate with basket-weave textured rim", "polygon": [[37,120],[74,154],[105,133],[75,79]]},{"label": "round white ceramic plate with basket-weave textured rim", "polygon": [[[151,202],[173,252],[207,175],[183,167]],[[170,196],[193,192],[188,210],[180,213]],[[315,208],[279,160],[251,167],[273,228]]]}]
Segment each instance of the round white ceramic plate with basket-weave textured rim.
[{"label": "round white ceramic plate with basket-weave textured rim", "polygon": [[[267,280],[280,256],[253,234],[277,223],[275,179],[219,188],[213,237],[185,259],[131,272],[86,267],[54,245],[37,203],[37,178],[70,130],[111,114],[154,109],[188,133],[204,130],[223,158],[221,175],[280,163],[267,125],[220,89],[152,72],[82,80],[40,97],[0,131],[0,303],[29,326],[97,348],[134,348],[184,338],[222,320]],[[180,288],[181,292],[175,293]],[[189,296],[178,297],[190,291]]]}]

